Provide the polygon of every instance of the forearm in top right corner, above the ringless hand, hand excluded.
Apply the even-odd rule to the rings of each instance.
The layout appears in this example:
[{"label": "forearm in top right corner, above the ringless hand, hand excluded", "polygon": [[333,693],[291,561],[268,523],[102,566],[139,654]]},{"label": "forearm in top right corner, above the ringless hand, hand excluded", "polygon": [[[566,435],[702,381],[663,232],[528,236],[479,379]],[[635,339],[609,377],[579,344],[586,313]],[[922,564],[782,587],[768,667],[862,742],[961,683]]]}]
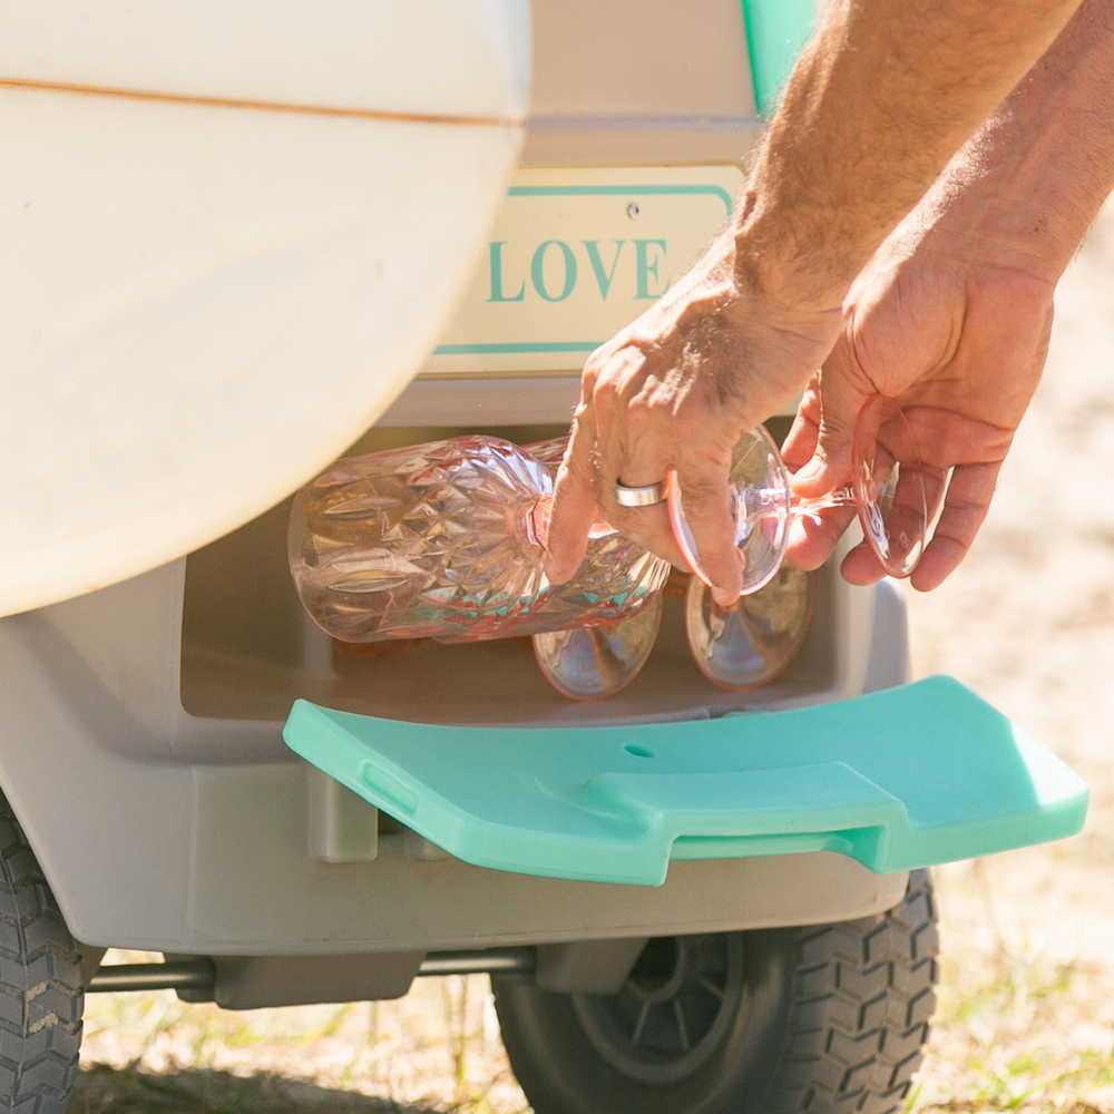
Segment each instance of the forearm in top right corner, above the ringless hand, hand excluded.
[{"label": "forearm in top right corner, above the ringless hand, hand excluded", "polygon": [[1084,0],[948,165],[917,223],[1055,283],[1114,189],[1114,0]]}]

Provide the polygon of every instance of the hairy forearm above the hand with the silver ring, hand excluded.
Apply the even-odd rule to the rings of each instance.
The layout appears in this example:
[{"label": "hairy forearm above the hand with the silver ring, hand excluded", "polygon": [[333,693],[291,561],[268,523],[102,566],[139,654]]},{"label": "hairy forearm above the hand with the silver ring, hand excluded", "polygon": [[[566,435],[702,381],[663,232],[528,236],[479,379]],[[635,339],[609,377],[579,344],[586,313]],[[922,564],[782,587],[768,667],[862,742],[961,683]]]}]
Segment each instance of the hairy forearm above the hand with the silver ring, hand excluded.
[{"label": "hairy forearm above the hand with the silver ring, hand excluded", "polygon": [[1078,0],[836,0],[793,71],[736,216],[743,286],[838,306]]}]

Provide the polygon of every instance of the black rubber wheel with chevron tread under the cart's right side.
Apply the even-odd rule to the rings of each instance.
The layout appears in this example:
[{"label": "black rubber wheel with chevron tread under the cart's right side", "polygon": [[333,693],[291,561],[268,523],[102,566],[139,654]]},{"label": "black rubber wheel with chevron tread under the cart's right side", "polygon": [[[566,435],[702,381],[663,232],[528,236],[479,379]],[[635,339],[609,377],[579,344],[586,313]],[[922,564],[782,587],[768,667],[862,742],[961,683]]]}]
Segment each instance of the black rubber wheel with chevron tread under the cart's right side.
[{"label": "black rubber wheel with chevron tread under the cart's right side", "polygon": [[938,950],[916,871],[876,917],[651,940],[614,997],[491,984],[536,1114],[887,1114],[920,1066]]}]

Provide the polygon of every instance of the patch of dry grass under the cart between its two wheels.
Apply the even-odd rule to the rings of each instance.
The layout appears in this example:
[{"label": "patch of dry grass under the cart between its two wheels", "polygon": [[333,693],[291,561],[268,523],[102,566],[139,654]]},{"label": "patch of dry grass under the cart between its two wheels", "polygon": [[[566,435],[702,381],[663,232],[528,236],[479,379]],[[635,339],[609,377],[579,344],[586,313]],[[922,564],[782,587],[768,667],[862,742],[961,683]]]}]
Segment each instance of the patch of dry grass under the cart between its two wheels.
[{"label": "patch of dry grass under the cart between its two wheels", "polygon": [[243,1013],[96,995],[81,1058],[80,1114],[527,1108],[483,976],[423,979],[399,1001]]}]

